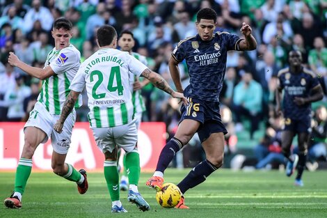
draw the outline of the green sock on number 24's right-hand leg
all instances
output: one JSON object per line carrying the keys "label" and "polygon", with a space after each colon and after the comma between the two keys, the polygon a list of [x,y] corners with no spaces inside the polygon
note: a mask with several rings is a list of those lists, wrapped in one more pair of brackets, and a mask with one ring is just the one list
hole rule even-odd
{"label": "green sock on number 24's right-hand leg", "polygon": [[132,150],[126,154],[126,168],[128,173],[129,184],[138,185],[140,179],[140,155],[137,150]]}

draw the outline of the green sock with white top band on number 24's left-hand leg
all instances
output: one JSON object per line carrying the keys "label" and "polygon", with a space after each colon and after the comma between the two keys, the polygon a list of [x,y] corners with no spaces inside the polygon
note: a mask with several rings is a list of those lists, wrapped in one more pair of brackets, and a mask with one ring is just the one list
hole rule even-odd
{"label": "green sock with white top band on number 24's left-hand leg", "polygon": [[104,161],[104,178],[108,187],[111,201],[119,200],[119,174],[117,170],[117,161]]}

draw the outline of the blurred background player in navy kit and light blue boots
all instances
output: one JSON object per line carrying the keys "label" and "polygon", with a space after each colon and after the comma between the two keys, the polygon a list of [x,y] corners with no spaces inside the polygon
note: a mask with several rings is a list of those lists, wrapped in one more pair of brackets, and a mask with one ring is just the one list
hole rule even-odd
{"label": "blurred background player in navy kit and light blue boots", "polygon": [[[282,114],[280,102],[284,90],[282,104],[285,128],[282,132],[282,153],[288,159],[286,175],[292,176],[297,166],[298,174],[294,185],[303,186],[302,173],[311,132],[311,102],[324,98],[324,93],[314,73],[303,68],[301,52],[289,52],[289,64],[289,68],[278,72],[276,111]],[[290,148],[296,134],[298,134],[298,155],[291,155]]]}

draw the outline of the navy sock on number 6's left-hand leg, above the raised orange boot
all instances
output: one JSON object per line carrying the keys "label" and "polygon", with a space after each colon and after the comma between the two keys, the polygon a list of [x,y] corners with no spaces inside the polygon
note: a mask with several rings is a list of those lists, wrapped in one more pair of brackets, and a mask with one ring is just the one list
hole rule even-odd
{"label": "navy sock on number 6's left-hand leg, above the raised orange boot", "polygon": [[179,151],[182,146],[182,141],[179,139],[176,139],[175,137],[170,139],[170,141],[166,143],[166,146],[161,150],[156,171],[164,172],[177,151]]}

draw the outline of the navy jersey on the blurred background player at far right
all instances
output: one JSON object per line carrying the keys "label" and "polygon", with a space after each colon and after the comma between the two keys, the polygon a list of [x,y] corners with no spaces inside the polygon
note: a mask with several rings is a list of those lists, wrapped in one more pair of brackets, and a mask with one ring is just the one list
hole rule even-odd
{"label": "navy jersey on the blurred background player at far right", "polygon": [[312,88],[319,85],[317,77],[308,69],[303,68],[301,73],[292,73],[289,68],[278,72],[279,88],[284,89],[282,107],[285,118],[301,120],[311,115],[311,103],[298,106],[295,97],[308,98]]}

